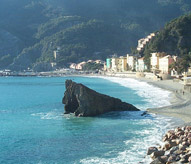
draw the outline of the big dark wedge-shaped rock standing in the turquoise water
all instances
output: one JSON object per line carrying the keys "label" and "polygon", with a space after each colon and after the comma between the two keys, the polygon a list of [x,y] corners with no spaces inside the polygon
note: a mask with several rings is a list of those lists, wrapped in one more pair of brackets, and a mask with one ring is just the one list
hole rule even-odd
{"label": "big dark wedge-shaped rock standing in the turquoise water", "polygon": [[110,111],[139,111],[131,104],[122,102],[98,93],[88,87],[66,80],[66,91],[62,100],[65,104],[65,113],[74,113],[75,116],[96,116]]}

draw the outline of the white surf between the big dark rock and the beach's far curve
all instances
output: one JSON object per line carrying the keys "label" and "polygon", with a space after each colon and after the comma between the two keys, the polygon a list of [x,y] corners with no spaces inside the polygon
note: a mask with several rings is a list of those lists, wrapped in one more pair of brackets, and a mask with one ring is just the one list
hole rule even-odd
{"label": "white surf between the big dark rock and the beach's far curve", "polygon": [[135,91],[137,95],[142,97],[147,103],[144,106],[137,106],[138,108],[145,110],[147,108],[158,108],[171,105],[170,98],[171,92],[164,89],[155,87],[147,82],[138,81],[131,78],[120,77],[99,77],[109,80],[114,83],[118,83],[121,86],[130,88]]}

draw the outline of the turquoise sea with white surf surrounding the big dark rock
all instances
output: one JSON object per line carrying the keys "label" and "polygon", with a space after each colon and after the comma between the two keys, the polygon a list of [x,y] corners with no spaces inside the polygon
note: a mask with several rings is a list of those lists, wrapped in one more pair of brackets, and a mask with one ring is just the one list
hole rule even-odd
{"label": "turquoise sea with white surf surrounding the big dark rock", "polygon": [[[131,103],[142,111],[97,117],[64,115],[65,80]],[[172,118],[145,115],[170,105],[171,93],[118,77],[0,77],[1,164],[147,164]]]}

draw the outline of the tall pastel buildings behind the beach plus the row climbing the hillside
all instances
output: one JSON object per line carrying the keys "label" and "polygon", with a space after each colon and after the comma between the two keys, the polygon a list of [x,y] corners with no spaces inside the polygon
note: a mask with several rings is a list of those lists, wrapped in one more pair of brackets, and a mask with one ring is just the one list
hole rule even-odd
{"label": "tall pastel buildings behind the beach plus the row climbing the hillside", "polygon": [[177,62],[177,56],[168,55],[165,52],[154,52],[151,53],[150,57],[150,71],[152,74],[148,75],[148,68],[145,64],[144,57],[139,54],[146,44],[154,37],[155,34],[151,33],[146,38],[138,41],[137,52],[138,54],[127,54],[126,56],[113,56],[112,58],[106,59],[105,70],[108,73],[125,73],[125,72],[136,72],[136,76],[145,77],[152,75],[153,79],[162,80],[170,78],[171,76],[177,76],[175,70],[170,70],[170,65]]}

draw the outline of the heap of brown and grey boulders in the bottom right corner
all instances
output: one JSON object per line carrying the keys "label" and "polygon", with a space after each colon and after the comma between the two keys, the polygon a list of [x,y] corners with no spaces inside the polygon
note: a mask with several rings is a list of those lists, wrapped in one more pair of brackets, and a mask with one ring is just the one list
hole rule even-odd
{"label": "heap of brown and grey boulders in the bottom right corner", "polygon": [[191,163],[191,126],[169,130],[163,142],[159,147],[148,149],[147,155],[153,159],[150,164]]}

